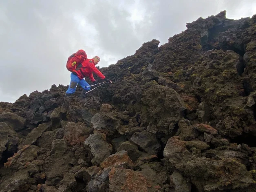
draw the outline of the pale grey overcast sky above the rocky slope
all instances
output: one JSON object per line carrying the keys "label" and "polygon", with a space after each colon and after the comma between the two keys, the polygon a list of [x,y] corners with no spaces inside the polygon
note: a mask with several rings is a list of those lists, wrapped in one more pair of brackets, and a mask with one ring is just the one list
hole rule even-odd
{"label": "pale grey overcast sky above the rocky slope", "polygon": [[[256,14],[255,0],[1,0],[0,102],[70,82],[69,55],[84,49],[100,67],[161,44],[186,23],[226,10],[227,18]],[[88,81],[90,84],[90,81]]]}

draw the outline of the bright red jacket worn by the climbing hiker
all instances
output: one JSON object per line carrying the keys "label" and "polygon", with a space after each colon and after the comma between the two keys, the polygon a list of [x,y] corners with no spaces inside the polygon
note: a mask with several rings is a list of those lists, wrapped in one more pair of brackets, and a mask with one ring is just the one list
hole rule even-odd
{"label": "bright red jacket worn by the climbing hiker", "polygon": [[102,75],[102,73],[95,67],[95,63],[93,59],[87,59],[82,62],[82,64],[79,64],[77,68],[74,70],[74,72],[77,74],[79,79],[83,79],[84,77],[89,77],[91,82],[94,82],[95,79],[93,78],[93,72],[96,73],[96,75],[101,78],[105,79],[105,76]]}

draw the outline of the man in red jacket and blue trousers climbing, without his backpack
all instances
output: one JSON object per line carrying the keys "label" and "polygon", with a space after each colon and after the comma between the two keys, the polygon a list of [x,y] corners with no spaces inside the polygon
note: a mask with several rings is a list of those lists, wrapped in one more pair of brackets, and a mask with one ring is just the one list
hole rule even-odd
{"label": "man in red jacket and blue trousers climbing, without his backpack", "polygon": [[71,94],[75,93],[75,90],[77,88],[77,84],[79,84],[83,90],[81,95],[79,96],[80,98],[85,97],[85,93],[90,90],[90,86],[84,77],[89,77],[91,82],[93,84],[98,84],[97,81],[93,78],[93,72],[101,79],[104,79],[104,81],[111,83],[109,79],[106,79],[104,75],[96,68],[95,65],[97,65],[100,61],[100,58],[98,56],[93,57],[93,59],[86,59],[84,62],[80,63],[77,65],[75,70],[71,73],[71,81],[68,87],[68,90],[66,91],[65,97],[70,96]]}

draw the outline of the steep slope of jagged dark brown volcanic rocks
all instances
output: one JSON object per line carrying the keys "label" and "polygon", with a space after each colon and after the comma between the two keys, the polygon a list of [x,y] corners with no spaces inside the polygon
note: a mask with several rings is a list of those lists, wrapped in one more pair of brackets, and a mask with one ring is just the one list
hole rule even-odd
{"label": "steep slope of jagged dark brown volcanic rocks", "polygon": [[255,192],[256,15],[223,11],[100,68],[113,84],[0,103],[0,192]]}

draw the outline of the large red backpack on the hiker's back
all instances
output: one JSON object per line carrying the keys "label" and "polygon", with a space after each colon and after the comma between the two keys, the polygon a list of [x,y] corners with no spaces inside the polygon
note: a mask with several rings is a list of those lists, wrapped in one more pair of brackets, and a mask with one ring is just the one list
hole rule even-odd
{"label": "large red backpack on the hiker's back", "polygon": [[73,72],[79,63],[87,59],[87,54],[84,50],[80,49],[68,57],[66,68],[68,71]]}

